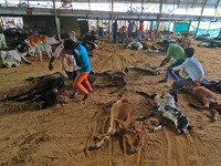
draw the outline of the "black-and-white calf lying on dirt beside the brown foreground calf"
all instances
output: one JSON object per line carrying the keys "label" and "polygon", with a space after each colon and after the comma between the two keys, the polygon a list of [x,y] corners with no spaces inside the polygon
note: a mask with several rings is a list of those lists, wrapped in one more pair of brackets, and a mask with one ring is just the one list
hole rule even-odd
{"label": "black-and-white calf lying on dirt beside the brown foreground calf", "polygon": [[188,125],[189,121],[187,116],[182,115],[182,113],[178,110],[175,98],[169,93],[161,92],[154,95],[148,95],[139,91],[136,91],[136,93],[154,100],[157,105],[157,108],[150,115],[137,118],[137,121],[144,121],[157,115],[158,113],[161,113],[164,117],[162,123],[159,126],[155,127],[154,129],[155,132],[165,126],[167,124],[167,120],[172,121],[175,123],[177,131],[181,134],[183,134],[186,129],[191,129],[191,126]]}

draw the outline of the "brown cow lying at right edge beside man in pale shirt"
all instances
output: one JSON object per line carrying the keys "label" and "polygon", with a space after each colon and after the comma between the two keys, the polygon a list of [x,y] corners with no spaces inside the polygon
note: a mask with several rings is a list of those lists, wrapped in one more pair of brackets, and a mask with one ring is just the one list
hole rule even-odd
{"label": "brown cow lying at right edge beside man in pale shirt", "polygon": [[206,89],[204,86],[186,86],[182,89],[193,94],[203,103],[203,106],[193,103],[191,103],[190,105],[200,108],[210,108],[211,118],[213,121],[218,120],[219,111],[221,111],[221,101],[218,101],[215,93]]}

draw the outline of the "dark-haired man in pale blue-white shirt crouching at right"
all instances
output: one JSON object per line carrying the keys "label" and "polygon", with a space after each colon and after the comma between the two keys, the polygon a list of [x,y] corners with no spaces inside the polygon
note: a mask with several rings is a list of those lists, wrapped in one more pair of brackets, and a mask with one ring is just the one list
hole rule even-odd
{"label": "dark-haired man in pale blue-white shirt crouching at right", "polygon": [[204,77],[204,71],[202,69],[202,65],[197,59],[193,58],[193,48],[185,49],[186,61],[181,65],[168,69],[169,71],[178,71],[180,69],[185,69],[189,75],[189,79],[181,79],[173,82],[172,94],[175,95],[176,102],[178,101],[177,95],[180,87],[200,85],[201,81]]}

